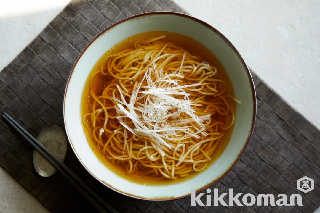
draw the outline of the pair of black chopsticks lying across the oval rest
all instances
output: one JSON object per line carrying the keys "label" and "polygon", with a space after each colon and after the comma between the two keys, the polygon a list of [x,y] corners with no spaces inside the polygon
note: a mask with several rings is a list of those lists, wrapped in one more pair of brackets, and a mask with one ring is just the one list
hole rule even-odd
{"label": "pair of black chopsticks lying across the oval rest", "polygon": [[72,184],[91,204],[100,212],[117,212],[110,204],[105,202],[97,195],[83,180],[81,180],[74,172],[72,172],[58,158],[52,155],[39,141],[37,141],[30,133],[22,128],[7,113],[3,114],[3,118],[24,138],[33,148],[35,148],[52,166],[64,176],[70,184]]}

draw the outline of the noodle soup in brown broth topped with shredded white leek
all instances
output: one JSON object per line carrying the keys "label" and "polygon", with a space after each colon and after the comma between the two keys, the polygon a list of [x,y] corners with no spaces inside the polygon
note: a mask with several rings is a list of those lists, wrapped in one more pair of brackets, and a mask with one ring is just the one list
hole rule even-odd
{"label": "noodle soup in brown broth topped with shredded white leek", "polygon": [[181,34],[132,36],[106,52],[83,93],[82,124],[95,155],[144,184],[204,171],[235,122],[232,85],[216,57]]}

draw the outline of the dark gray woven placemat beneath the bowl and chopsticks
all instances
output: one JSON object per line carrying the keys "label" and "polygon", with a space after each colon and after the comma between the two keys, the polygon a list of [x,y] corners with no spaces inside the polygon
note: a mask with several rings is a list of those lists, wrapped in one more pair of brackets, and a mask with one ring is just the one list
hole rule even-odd
{"label": "dark gray woven placemat beneath the bowl and chopsticks", "polygon": [[[0,72],[0,112],[12,115],[37,135],[48,125],[64,129],[65,83],[76,57],[101,30],[127,16],[148,11],[186,13],[171,0],[75,0]],[[191,206],[191,198],[152,202],[118,194],[92,178],[68,147],[65,164],[119,212],[313,212],[320,206],[320,131],[292,109],[252,72],[257,92],[257,120],[249,147],[223,179],[211,187],[219,194],[300,194],[303,206]],[[94,212],[68,182],[55,174],[40,177],[33,168],[32,148],[1,118],[0,164],[51,212]],[[303,176],[314,190],[297,190]],[[190,186],[191,188],[192,186]],[[241,200],[242,196],[240,196]],[[205,201],[205,198],[204,198]],[[228,196],[224,197],[228,203]]]}

